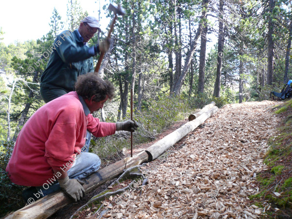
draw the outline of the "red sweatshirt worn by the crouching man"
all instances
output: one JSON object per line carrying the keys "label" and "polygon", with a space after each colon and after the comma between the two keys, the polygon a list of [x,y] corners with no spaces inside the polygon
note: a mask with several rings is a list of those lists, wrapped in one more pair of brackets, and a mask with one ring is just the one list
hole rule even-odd
{"label": "red sweatshirt worn by the crouching man", "polygon": [[86,113],[89,110],[82,106],[75,91],[39,108],[18,134],[6,167],[11,181],[42,186],[53,178],[53,169],[67,171],[72,166],[75,154],[85,145],[86,129],[95,137],[115,133],[115,123],[100,122]]}

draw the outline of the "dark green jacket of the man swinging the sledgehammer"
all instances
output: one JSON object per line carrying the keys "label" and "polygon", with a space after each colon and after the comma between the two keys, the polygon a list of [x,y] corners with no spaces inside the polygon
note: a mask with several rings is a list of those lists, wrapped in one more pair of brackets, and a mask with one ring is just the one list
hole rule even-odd
{"label": "dark green jacket of the man swinging the sledgehammer", "polygon": [[40,78],[41,87],[58,87],[74,91],[74,84],[81,74],[93,72],[92,54],[83,44],[79,32],[64,31],[55,39],[46,70]]}

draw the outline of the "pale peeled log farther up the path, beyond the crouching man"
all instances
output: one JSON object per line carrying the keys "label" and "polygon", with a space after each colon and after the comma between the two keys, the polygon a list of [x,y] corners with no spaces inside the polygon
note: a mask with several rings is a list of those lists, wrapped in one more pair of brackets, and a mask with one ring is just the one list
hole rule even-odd
{"label": "pale peeled log farther up the path, beyond the crouching man", "polygon": [[155,160],[159,157],[165,150],[173,146],[179,140],[181,140],[186,134],[193,131],[195,128],[200,126],[207,118],[217,112],[218,107],[214,106],[212,109],[207,112],[203,112],[197,119],[192,120],[184,124],[181,128],[176,129],[174,132],[165,136],[160,141],[156,142],[154,145],[148,147],[146,152],[149,156],[149,161]]}

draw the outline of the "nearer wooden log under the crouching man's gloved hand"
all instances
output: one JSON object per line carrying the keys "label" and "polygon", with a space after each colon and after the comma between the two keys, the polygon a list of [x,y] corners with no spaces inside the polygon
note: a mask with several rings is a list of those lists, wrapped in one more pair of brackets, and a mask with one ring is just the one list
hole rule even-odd
{"label": "nearer wooden log under the crouching man's gloved hand", "polygon": [[[145,151],[133,155],[133,157],[120,160],[82,179],[82,181],[85,182],[83,187],[86,192],[89,192],[102,183],[105,183],[123,173],[125,167],[128,169],[129,167],[142,164],[147,160],[148,155]],[[65,195],[64,192],[58,191],[19,209],[18,211],[8,215],[6,219],[45,219],[71,202],[73,202],[73,200]]]}

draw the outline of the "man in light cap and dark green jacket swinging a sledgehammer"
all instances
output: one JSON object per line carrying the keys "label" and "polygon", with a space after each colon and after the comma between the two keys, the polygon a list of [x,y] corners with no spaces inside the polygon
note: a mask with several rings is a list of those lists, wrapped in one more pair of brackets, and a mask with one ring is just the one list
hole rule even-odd
{"label": "man in light cap and dark green jacket swinging a sledgehammer", "polygon": [[40,78],[40,94],[46,103],[74,91],[77,77],[93,72],[92,56],[108,51],[108,39],[88,47],[88,41],[97,31],[101,32],[98,20],[89,16],[81,21],[78,30],[64,31],[56,37],[47,68]]}

